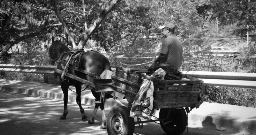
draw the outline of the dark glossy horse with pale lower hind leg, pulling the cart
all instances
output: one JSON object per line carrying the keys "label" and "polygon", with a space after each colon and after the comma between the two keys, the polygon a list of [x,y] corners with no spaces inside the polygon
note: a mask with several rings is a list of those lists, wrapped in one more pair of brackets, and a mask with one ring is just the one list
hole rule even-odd
{"label": "dark glossy horse with pale lower hind leg, pulling the cart", "polygon": [[[64,66],[66,65],[66,61],[65,59],[69,56],[69,52],[71,52],[70,49],[68,49],[67,46],[65,46],[62,42],[60,41],[54,41],[52,45],[49,48],[49,54],[50,54],[50,64],[54,65],[55,61],[57,61],[57,59],[60,59],[60,61],[58,62],[57,65],[57,69],[62,70],[62,66],[61,64],[63,64]],[[90,75],[91,74],[97,74],[100,75],[105,69],[111,70],[110,68],[110,62],[108,61],[108,59],[96,52],[96,51],[87,51],[87,52],[83,52],[80,58],[80,62],[79,62],[79,67],[83,70],[85,70],[86,72],[89,72]],[[74,66],[68,66],[68,72],[75,74],[77,77],[80,77],[82,79],[85,79],[87,81],[93,82],[93,79],[96,78],[95,76],[90,76],[88,74],[79,72],[79,71],[74,71]],[[61,75],[59,74],[59,78],[61,78]],[[81,88],[82,88],[82,82],[79,82],[77,80],[68,78],[65,81],[61,81],[60,85],[64,94],[64,112],[63,115],[60,117],[61,120],[65,120],[66,119],[66,115],[68,114],[68,87],[70,85],[74,85],[76,88],[76,92],[77,92],[77,104],[79,105],[80,108],[80,112],[82,113],[82,120],[86,121],[87,120],[87,115],[83,109],[83,107],[81,106]],[[93,96],[96,98],[95,101],[100,101],[101,98],[101,94],[100,93],[96,93],[95,92],[95,88],[91,87],[91,92],[93,94]],[[89,124],[93,124],[94,123],[94,118],[96,116],[96,112],[98,107],[100,107],[100,109],[102,110],[102,126],[101,128],[106,128],[106,114],[104,111],[104,101],[106,99],[106,96],[104,96],[105,94],[103,94],[103,98],[102,98],[102,103],[95,103],[95,109],[93,111],[93,115],[92,117],[88,120]]]}

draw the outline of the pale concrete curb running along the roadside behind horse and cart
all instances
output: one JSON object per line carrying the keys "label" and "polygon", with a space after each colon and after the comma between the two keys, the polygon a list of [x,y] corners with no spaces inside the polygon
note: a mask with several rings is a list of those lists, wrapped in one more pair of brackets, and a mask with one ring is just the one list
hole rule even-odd
{"label": "pale concrete curb running along the roadside behind horse and cart", "polygon": [[[75,90],[74,87],[70,89]],[[43,98],[63,100],[63,93],[60,85],[43,84],[38,82],[11,81],[0,79],[0,90],[39,96]],[[123,104],[126,99],[119,100]],[[76,93],[69,90],[68,102],[76,102]],[[95,98],[91,91],[82,92],[81,103],[84,105],[94,105]],[[104,106],[111,109],[118,103],[114,99],[107,99]],[[228,104],[217,104],[204,102],[198,109],[193,109],[188,113],[188,124],[195,124],[202,127],[211,127],[219,131],[232,131],[240,134],[256,133],[256,108],[241,107]],[[159,116],[159,111],[154,112],[154,116]]]}

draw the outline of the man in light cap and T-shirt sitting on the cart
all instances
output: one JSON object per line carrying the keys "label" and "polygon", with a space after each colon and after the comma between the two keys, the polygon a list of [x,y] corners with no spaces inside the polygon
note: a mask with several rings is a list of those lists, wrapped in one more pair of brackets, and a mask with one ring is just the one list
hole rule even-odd
{"label": "man in light cap and T-shirt sitting on the cart", "polygon": [[157,59],[152,60],[155,66],[170,66],[179,70],[182,64],[182,44],[180,40],[174,35],[175,26],[171,22],[166,22],[159,27],[166,37],[163,41],[160,55]]}

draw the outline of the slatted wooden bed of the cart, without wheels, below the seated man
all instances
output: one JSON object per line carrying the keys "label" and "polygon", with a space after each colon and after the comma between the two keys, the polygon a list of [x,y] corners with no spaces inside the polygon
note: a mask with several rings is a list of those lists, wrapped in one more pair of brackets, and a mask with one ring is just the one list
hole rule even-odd
{"label": "slatted wooden bed of the cart, without wheels, below the seated man", "polygon": [[[150,77],[145,73],[150,73],[143,69],[125,69],[120,66],[110,65],[112,68],[111,78],[116,86],[116,97],[126,97],[132,103],[135,94],[127,93],[124,89],[132,93],[138,93],[144,79],[150,79],[154,83],[154,109],[160,108],[198,108],[201,104],[203,81],[190,77],[180,72],[166,72],[168,80],[159,80]],[[166,70],[165,70],[166,71]],[[151,72],[152,73],[152,72]]]}

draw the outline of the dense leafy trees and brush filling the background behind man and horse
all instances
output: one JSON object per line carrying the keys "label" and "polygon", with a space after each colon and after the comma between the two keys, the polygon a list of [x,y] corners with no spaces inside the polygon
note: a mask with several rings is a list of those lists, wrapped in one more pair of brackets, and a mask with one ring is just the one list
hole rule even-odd
{"label": "dense leafy trees and brush filling the background behind man and horse", "polygon": [[[80,0],[58,0],[57,8],[74,39],[79,41],[85,34],[85,27],[90,27],[87,25],[92,24],[108,4],[108,0],[85,1],[85,12],[83,12]],[[241,36],[247,31],[254,34],[256,28],[255,7],[256,2],[250,0],[124,0],[118,2],[96,31],[93,31],[90,40],[96,41],[97,44],[87,43],[86,47],[95,50],[102,50],[103,47],[108,51],[107,56],[113,64],[126,68],[145,69],[146,64],[141,63],[150,63],[152,57],[158,56],[162,41],[142,39],[142,37],[148,36],[150,33],[161,33],[158,27],[170,21],[176,25],[176,35],[183,44],[182,70],[255,72],[256,63],[252,56],[255,55],[256,36],[252,38],[248,47],[239,48],[241,57],[243,57],[241,59],[213,57],[214,54],[209,52],[210,47],[213,46],[222,46],[227,43],[234,45],[231,43],[232,41],[218,40],[216,36]],[[220,23],[218,20],[215,21],[216,18]],[[2,0],[0,53],[16,39],[38,32],[46,25],[58,23],[59,20],[53,11],[51,0]],[[70,39],[65,35],[63,27],[50,27],[43,34],[21,40],[22,42],[19,44],[27,52],[26,55],[13,52],[11,58],[1,57],[0,62],[48,65],[47,50],[52,36],[58,36],[64,40],[66,45],[70,45]],[[38,82],[46,82],[48,78],[48,82],[58,83],[54,81],[54,78],[39,74],[7,73],[5,77],[8,76],[9,79]],[[240,95],[243,96],[246,93],[255,95],[252,90],[237,90],[209,87],[208,99],[228,104],[247,104],[248,102],[243,100],[242,96],[232,95],[230,91],[241,92]],[[214,91],[221,91],[226,96],[216,95]],[[247,94],[245,97],[248,97],[247,100],[253,103],[253,96]],[[235,101],[234,98],[238,98],[239,101]]]}

